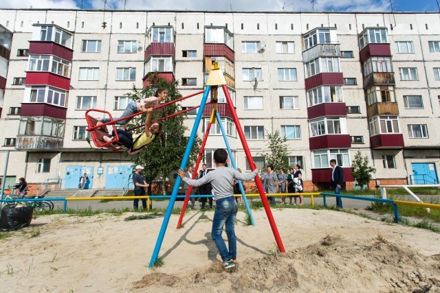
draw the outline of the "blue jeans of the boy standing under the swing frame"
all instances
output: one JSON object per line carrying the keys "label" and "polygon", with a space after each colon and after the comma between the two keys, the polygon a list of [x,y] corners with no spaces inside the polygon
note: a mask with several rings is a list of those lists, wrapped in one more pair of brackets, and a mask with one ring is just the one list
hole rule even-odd
{"label": "blue jeans of the boy standing under the swing frame", "polygon": [[[214,220],[212,221],[212,240],[214,240],[223,261],[236,259],[235,218],[238,209],[234,196],[220,198],[215,201]],[[228,236],[229,250],[226,248],[223,237],[221,237],[223,226],[226,226],[225,230]]]}

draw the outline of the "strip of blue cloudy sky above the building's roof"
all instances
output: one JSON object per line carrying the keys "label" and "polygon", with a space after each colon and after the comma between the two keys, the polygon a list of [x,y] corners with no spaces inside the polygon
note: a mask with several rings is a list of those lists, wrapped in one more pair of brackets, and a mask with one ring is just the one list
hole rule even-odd
{"label": "strip of blue cloudy sky above the building's roof", "polygon": [[[440,1],[440,0],[439,0]],[[0,8],[104,9],[104,0],[2,0]],[[109,10],[311,11],[311,0],[107,0]],[[393,0],[396,12],[437,12],[437,0]],[[389,12],[389,0],[316,0],[314,10]]]}

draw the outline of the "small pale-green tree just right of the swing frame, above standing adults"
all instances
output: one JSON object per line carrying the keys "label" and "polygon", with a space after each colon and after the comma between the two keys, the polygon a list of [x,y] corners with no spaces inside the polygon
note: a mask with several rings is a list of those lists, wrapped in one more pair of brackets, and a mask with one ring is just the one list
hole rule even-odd
{"label": "small pale-green tree just right of the swing frame, above standing adults", "polygon": [[278,130],[274,133],[266,132],[267,143],[266,146],[270,152],[259,153],[259,155],[264,157],[265,165],[273,165],[274,171],[278,172],[279,169],[285,168],[289,169],[289,156],[287,148],[287,139],[281,137]]}

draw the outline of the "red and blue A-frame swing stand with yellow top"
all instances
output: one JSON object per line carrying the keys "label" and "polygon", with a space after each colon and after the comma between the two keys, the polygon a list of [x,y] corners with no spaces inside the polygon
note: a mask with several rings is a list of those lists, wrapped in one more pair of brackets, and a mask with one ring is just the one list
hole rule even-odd
{"label": "red and blue A-frame swing stand with yellow top", "polygon": [[[205,87],[205,90],[203,91],[203,97],[201,99],[200,106],[193,107],[193,108],[199,108],[199,111],[197,111],[197,116],[196,116],[195,121],[194,121],[194,126],[192,126],[191,134],[190,134],[190,137],[188,139],[188,145],[186,145],[186,150],[185,150],[185,153],[184,153],[184,158],[181,161],[180,169],[185,169],[186,165],[188,164],[188,159],[189,159],[189,156],[190,156],[190,152],[191,152],[192,146],[194,145],[195,137],[197,136],[197,129],[199,128],[199,125],[200,125],[201,117],[203,115],[203,110],[205,108],[205,105],[206,104],[210,104],[210,103],[213,103],[214,105],[212,107],[212,113],[211,113],[211,116],[210,116],[209,124],[208,124],[208,126],[206,128],[206,131],[205,131],[205,136],[203,137],[203,141],[202,141],[202,144],[201,144],[201,149],[199,151],[199,156],[197,157],[197,162],[196,162],[196,165],[195,165],[195,170],[198,169],[199,163],[200,163],[201,158],[203,156],[203,151],[204,151],[204,148],[205,148],[205,145],[206,145],[206,141],[208,139],[208,134],[210,132],[210,127],[211,127],[212,124],[216,124],[218,121],[219,121],[219,127],[221,129],[221,133],[223,135],[223,139],[225,141],[226,148],[228,150],[228,156],[229,156],[230,162],[232,163],[232,167],[234,167],[234,169],[236,169],[235,161],[233,159],[232,152],[230,150],[228,139],[226,138],[225,130],[223,128],[223,125],[221,124],[220,115],[217,112],[217,93],[218,93],[219,86],[221,86],[221,88],[223,89],[223,93],[224,93],[224,95],[226,97],[226,102],[227,102],[227,104],[228,104],[228,106],[230,108],[230,111],[231,111],[231,114],[232,114],[232,119],[234,120],[234,124],[236,126],[236,131],[239,134],[239,138],[241,140],[241,144],[243,145],[243,150],[245,151],[245,155],[246,155],[246,158],[248,159],[248,163],[250,165],[250,168],[251,169],[256,169],[256,165],[255,165],[254,161],[252,160],[252,155],[250,154],[248,143],[247,143],[247,141],[245,139],[245,135],[243,133],[243,130],[241,129],[241,124],[240,124],[240,121],[239,121],[239,117],[236,115],[234,104],[232,103],[232,99],[230,97],[228,88],[226,86],[225,78],[224,78],[223,73],[221,72],[221,69],[219,68],[219,65],[218,65],[217,62],[214,62],[214,64],[212,65],[212,70],[211,70],[210,75],[208,77],[208,80],[206,82],[206,87]],[[201,93],[201,92],[195,93],[194,95],[198,95],[199,93]],[[211,96],[211,101],[207,102],[209,95]],[[192,179],[194,179],[195,176],[196,176],[196,172],[193,172]],[[181,183],[181,178],[179,176],[177,176],[175,185],[173,187],[173,192],[171,194],[170,201],[168,202],[168,207],[166,208],[166,212],[165,212],[165,215],[164,215],[164,221],[162,222],[162,226],[161,226],[161,228],[159,230],[159,235],[157,236],[157,241],[156,241],[156,244],[155,244],[155,248],[153,250],[153,255],[151,256],[150,263],[148,264],[148,268],[152,268],[155,265],[155,262],[157,261],[157,258],[159,257],[159,250],[160,250],[160,248],[162,246],[162,242],[164,240],[164,235],[166,233],[166,228],[167,228],[167,226],[169,224],[169,221],[170,221],[171,212],[173,211],[173,207],[174,207],[174,204],[175,204],[175,200],[177,198],[177,192],[179,191],[180,183]],[[283,241],[281,240],[281,237],[280,237],[280,235],[278,233],[278,228],[276,226],[274,217],[272,215],[272,211],[270,209],[270,205],[267,202],[267,198],[265,196],[265,193],[264,193],[264,190],[263,190],[263,185],[261,184],[261,180],[260,180],[259,176],[255,177],[255,183],[256,183],[256,187],[257,187],[257,189],[259,191],[259,194],[260,194],[260,197],[261,197],[261,201],[263,202],[263,207],[265,209],[265,213],[267,215],[267,219],[269,220],[270,226],[272,228],[272,232],[274,233],[274,237],[275,237],[275,241],[276,241],[276,244],[278,246],[278,249],[280,250],[281,253],[285,253],[285,248],[284,248],[284,245],[283,245]],[[240,181],[239,181],[239,187],[240,187],[240,190],[241,190],[241,194],[243,196],[243,201],[245,202],[245,205],[246,205],[246,209],[248,209],[248,214],[250,215],[250,218],[252,220],[252,224],[255,225],[254,224],[254,219],[252,218],[252,213],[250,211],[250,207],[249,207],[249,204],[248,204],[248,200],[246,199],[246,196],[245,196],[245,193],[244,193],[244,190],[243,190],[243,185],[242,185],[242,183]],[[192,187],[189,187],[189,189],[188,189],[188,191],[186,193],[186,197],[185,197],[185,201],[184,201],[184,206],[182,207],[182,210],[181,210],[179,221],[177,223],[177,228],[181,227],[181,222],[183,220],[184,213],[185,213],[186,207],[188,205],[188,200],[190,198],[191,189],[192,189]]]}

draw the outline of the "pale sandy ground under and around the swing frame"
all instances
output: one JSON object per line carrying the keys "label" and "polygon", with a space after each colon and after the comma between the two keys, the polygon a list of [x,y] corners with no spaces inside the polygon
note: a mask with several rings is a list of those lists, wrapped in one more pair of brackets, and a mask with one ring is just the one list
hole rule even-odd
{"label": "pale sandy ground under and around the swing frame", "polygon": [[[3,292],[440,292],[440,234],[338,211],[273,211],[287,253],[276,253],[265,212],[239,212],[238,272],[223,272],[210,240],[213,211],[163,217],[50,215],[0,240]],[[39,235],[36,231],[39,230]],[[34,237],[32,237],[32,234]],[[224,235],[224,233],[223,233]]]}

